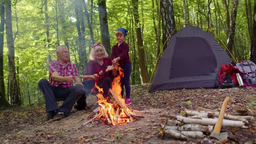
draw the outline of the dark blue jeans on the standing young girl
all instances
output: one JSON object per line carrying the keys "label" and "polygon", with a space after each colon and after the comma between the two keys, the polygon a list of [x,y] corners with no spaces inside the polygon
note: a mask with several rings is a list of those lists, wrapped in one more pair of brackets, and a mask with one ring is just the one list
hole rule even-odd
{"label": "dark blue jeans on the standing young girl", "polygon": [[124,77],[121,78],[121,95],[124,97],[124,85],[125,85],[125,93],[126,98],[130,98],[131,95],[131,87],[130,87],[130,76],[131,76],[131,63],[122,63],[120,64],[121,68],[124,71]]}

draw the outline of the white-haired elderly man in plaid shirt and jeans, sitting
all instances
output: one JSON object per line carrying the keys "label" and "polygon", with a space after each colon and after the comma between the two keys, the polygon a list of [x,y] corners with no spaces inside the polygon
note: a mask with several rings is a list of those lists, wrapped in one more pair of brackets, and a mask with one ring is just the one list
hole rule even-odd
{"label": "white-haired elderly man in plaid shirt and jeans, sitting", "polygon": [[[56,56],[58,59],[48,64],[49,82],[46,79],[40,79],[38,82],[38,87],[45,97],[46,118],[53,121],[67,117],[75,101],[85,95],[75,65],[68,62],[67,46],[58,46]],[[73,80],[75,86],[73,86]],[[56,98],[63,98],[65,101],[58,107]]]}

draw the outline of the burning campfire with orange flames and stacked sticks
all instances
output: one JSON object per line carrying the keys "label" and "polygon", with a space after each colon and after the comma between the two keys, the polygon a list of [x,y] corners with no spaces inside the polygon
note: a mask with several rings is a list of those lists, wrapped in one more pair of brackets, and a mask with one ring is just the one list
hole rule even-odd
{"label": "burning campfire with orange flames and stacked sticks", "polygon": [[[89,121],[86,121],[82,124],[88,124],[92,121],[102,121],[106,125],[120,125],[127,124],[133,121],[137,121],[142,116],[136,115],[135,111],[125,105],[125,100],[121,96],[121,77],[124,76],[124,73],[119,69],[119,75],[115,77],[112,82],[112,88],[109,88],[109,97],[104,97],[103,88],[98,87],[95,83],[95,88],[98,90],[96,94],[98,98],[98,105],[100,106],[100,111],[93,113],[88,117]],[[94,88],[93,88],[94,89]]]}

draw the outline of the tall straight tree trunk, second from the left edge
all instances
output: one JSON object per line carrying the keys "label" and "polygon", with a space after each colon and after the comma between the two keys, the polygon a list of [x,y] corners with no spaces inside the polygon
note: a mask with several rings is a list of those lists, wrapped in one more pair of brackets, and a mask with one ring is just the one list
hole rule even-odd
{"label": "tall straight tree trunk, second from the left edge", "polygon": [[14,61],[14,44],[13,44],[13,29],[12,29],[12,11],[11,1],[7,0],[5,4],[6,13],[6,39],[8,47],[8,69],[9,69],[9,82],[10,82],[10,97],[12,105],[21,105],[18,86],[15,73],[15,61]]}

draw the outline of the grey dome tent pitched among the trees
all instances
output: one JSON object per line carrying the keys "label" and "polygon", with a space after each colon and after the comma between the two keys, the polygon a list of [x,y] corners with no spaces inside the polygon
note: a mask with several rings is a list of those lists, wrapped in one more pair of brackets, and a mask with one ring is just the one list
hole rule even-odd
{"label": "grey dome tent pitched among the trees", "polygon": [[215,88],[220,65],[230,62],[210,33],[197,26],[186,26],[171,36],[149,92]]}

